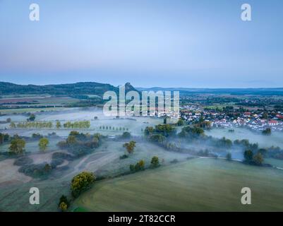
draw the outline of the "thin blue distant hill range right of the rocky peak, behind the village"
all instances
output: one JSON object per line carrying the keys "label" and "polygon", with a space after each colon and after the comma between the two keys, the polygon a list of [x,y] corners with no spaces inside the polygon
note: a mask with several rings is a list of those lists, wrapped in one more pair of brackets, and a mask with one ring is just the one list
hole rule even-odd
{"label": "thin blue distant hill range right of the rocky peak, behind the village", "polygon": [[283,95],[283,88],[136,88],[140,91],[179,91],[180,95],[230,94],[230,95]]}

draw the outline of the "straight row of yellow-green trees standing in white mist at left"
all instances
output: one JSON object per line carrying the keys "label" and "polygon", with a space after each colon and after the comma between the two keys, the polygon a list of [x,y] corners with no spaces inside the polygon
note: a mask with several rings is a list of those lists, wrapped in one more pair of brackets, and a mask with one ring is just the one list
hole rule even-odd
{"label": "straight row of yellow-green trees standing in white mist at left", "polygon": [[[37,129],[51,129],[53,128],[52,121],[26,121],[20,122],[18,124],[11,122],[11,128],[20,128],[20,129],[28,129],[28,128],[37,128]],[[60,121],[56,121],[56,128],[60,129],[62,127]],[[65,129],[88,129],[90,128],[90,121],[67,121],[63,124]]]}

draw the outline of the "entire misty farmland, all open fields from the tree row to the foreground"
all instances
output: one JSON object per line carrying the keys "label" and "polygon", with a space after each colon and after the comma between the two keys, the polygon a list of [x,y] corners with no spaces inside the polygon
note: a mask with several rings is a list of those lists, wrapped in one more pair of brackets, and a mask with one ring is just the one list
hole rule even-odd
{"label": "entire misty farmland, all open fields from the tree row to the foreground", "polygon": [[[147,126],[163,124],[162,118],[157,117],[105,117],[98,107],[68,108],[54,110],[39,110],[35,114],[35,121],[28,121],[32,109],[13,114],[5,112],[0,116],[1,133],[10,136],[18,134],[25,139],[25,157],[33,165],[51,165],[55,153],[70,154],[71,159],[64,159],[56,165],[47,177],[35,177],[30,171],[21,170],[16,165],[17,156],[9,156],[7,152],[11,145],[4,142],[0,145],[0,210],[4,211],[58,211],[58,201],[61,195],[71,198],[71,179],[80,172],[93,172],[99,180],[90,191],[86,191],[72,203],[68,210],[90,211],[131,211],[131,210],[281,210],[282,206],[282,170],[272,167],[255,167],[243,165],[241,162],[229,162],[220,159],[225,157],[227,150],[222,147],[212,147],[212,143],[201,141],[186,141],[177,137],[170,138],[170,142],[179,145],[183,151],[169,150],[149,142],[144,132]],[[7,119],[15,124],[52,123],[49,128],[11,127]],[[89,121],[88,128],[64,127],[64,124]],[[56,127],[60,122],[61,127]],[[69,123],[70,124],[70,123]],[[176,126],[176,132],[182,130]],[[66,141],[71,131],[93,136],[100,133],[104,136],[99,147],[80,156],[70,153],[67,148],[59,148],[61,141]],[[131,138],[124,139],[124,132],[131,134]],[[40,133],[49,140],[47,150],[42,152],[39,139],[32,138],[34,133]],[[280,134],[272,133],[263,136],[245,129],[235,129],[229,133],[225,129],[211,129],[205,131],[214,138],[227,136],[232,141],[248,136],[251,141],[265,145],[281,146]],[[135,150],[127,155],[124,143],[136,141]],[[80,147],[79,147],[80,148]],[[217,153],[218,160],[200,158],[199,150],[209,149]],[[75,149],[75,151],[77,148]],[[243,159],[241,148],[231,148],[231,155],[235,160]],[[153,156],[159,157],[160,167],[150,169]],[[136,165],[140,160],[145,162],[146,170],[130,173],[130,165]],[[282,160],[266,158],[265,163],[282,168]],[[40,205],[32,206],[28,203],[30,187],[40,189]],[[241,188],[249,186],[253,192],[253,205],[242,206],[240,203]],[[158,192],[157,192],[158,191]],[[265,194],[265,196],[263,196]],[[268,195],[266,195],[268,194]],[[264,198],[263,198],[264,197]]]}

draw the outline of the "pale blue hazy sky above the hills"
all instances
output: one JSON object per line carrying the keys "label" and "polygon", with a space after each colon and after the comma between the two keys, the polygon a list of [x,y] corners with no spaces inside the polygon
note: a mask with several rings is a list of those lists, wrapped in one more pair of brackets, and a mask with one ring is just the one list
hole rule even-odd
{"label": "pale blue hazy sky above the hills", "polygon": [[281,0],[0,0],[0,81],[283,87],[282,11]]}

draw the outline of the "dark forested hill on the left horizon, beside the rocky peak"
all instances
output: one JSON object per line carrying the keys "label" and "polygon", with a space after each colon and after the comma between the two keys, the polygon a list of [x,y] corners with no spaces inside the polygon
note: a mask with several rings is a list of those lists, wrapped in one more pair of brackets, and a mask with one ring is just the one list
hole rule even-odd
{"label": "dark forested hill on the left horizon, beside the rocky peak", "polygon": [[[60,85],[17,85],[0,82],[0,95],[18,94],[49,94],[49,95],[99,95],[106,91],[118,92],[119,88],[104,83],[71,83]],[[135,90],[130,83],[126,83],[126,91]]]}

